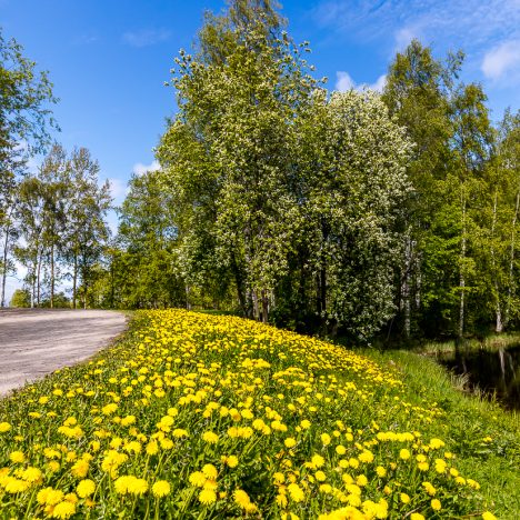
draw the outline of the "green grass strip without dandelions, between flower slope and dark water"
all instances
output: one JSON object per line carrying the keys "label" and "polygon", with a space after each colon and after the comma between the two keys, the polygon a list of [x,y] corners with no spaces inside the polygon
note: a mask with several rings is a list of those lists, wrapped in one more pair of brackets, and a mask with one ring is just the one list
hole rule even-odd
{"label": "green grass strip without dandelions, between flower slope and dark water", "polygon": [[[432,359],[393,350],[362,353],[383,366],[393,366],[404,382],[407,399],[424,398],[444,412],[432,429],[453,446],[458,463],[481,484],[499,518],[520,518],[520,414],[462,391],[461,381]],[[482,439],[491,438],[490,442]]]}

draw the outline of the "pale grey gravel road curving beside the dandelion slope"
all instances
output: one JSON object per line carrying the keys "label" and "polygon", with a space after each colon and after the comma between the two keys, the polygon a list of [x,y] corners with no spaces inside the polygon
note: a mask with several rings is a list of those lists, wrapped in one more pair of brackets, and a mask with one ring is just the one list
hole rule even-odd
{"label": "pale grey gravel road curving beside the dandelion slope", "polygon": [[89,358],[126,323],[114,311],[0,310],[0,396]]}

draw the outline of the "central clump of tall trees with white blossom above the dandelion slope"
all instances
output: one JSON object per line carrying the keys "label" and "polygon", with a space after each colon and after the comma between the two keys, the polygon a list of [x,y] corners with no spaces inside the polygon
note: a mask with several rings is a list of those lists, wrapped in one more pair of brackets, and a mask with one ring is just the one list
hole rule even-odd
{"label": "central clump of tall trees with white blossom above the dandelion slope", "polygon": [[207,17],[199,53],[177,60],[158,157],[182,274],[233,288],[244,316],[368,337],[392,313],[410,144],[377,96],[329,99],[307,42],[250,7]]}

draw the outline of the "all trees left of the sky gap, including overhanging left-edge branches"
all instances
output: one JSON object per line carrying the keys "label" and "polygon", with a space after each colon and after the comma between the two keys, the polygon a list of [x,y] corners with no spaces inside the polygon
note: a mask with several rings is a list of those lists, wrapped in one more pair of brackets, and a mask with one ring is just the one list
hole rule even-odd
{"label": "all trees left of the sky gap, including overhanging left-edge branches", "polygon": [[[89,293],[109,239],[109,186],[99,186],[99,164],[87,149],[68,156],[52,144],[52,84],[22,51],[0,32],[0,306],[16,262],[27,270],[16,303],[63,306],[58,288],[69,283],[71,307],[96,304]],[[29,173],[28,158],[46,151]]]}

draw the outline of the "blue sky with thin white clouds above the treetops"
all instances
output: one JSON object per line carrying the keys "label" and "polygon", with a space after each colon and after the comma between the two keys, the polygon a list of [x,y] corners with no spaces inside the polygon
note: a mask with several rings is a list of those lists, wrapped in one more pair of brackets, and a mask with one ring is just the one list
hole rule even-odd
{"label": "blue sky with thin white clouds above the treetops", "polygon": [[[286,0],[282,13],[329,88],[379,88],[396,51],[413,38],[436,56],[463,49],[462,79],[478,81],[492,118],[520,107],[520,0]],[[60,102],[56,136],[87,147],[110,179],[116,202],[176,110],[163,87],[173,58],[189,49],[204,9],[219,0],[0,0],[0,26],[49,70]],[[112,224],[114,223],[112,217]]]}

